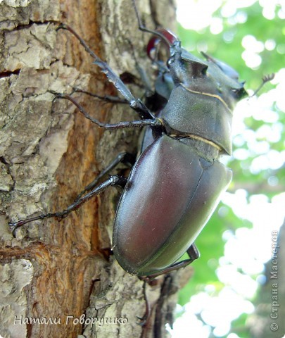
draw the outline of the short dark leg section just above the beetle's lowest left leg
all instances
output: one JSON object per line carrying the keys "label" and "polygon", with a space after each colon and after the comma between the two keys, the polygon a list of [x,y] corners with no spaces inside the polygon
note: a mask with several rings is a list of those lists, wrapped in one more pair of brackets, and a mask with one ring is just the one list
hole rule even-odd
{"label": "short dark leg section just above the beetle's lowest left leg", "polygon": [[80,194],[77,196],[77,199],[80,199],[84,194],[94,189],[94,187],[96,187],[96,185],[98,184],[99,180],[101,180],[101,178],[104,175],[108,174],[110,170],[115,168],[119,163],[124,163],[128,165],[129,167],[132,167],[132,165],[134,165],[134,162],[135,162],[135,157],[132,154],[129,154],[126,152],[118,154],[113,159],[113,161],[109,163],[109,165],[105,169],[103,169],[101,173],[99,173],[99,175],[91,183],[89,183],[87,187],[84,188],[84,190],[82,190],[82,192],[80,192]]}

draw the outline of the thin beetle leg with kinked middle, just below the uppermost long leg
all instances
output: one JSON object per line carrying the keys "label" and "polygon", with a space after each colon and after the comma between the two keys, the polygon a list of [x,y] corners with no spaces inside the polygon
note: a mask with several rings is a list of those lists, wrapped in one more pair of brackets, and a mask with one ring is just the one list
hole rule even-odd
{"label": "thin beetle leg with kinked middle, just below the uppermost long leg", "polygon": [[60,94],[52,92],[53,94],[56,94],[56,97],[53,99],[67,99],[68,101],[72,102],[77,108],[79,109],[80,113],[82,113],[85,118],[88,120],[91,120],[92,123],[95,123],[96,125],[99,125],[99,127],[102,127],[104,129],[113,130],[113,129],[121,129],[121,128],[134,128],[134,127],[145,127],[146,125],[150,125],[151,127],[161,127],[162,123],[157,118],[150,118],[150,119],[143,119],[138,121],[127,121],[127,122],[119,122],[119,123],[102,123],[96,118],[92,118],[87,111],[79,104],[75,99],[72,98],[72,96],[68,94]]}

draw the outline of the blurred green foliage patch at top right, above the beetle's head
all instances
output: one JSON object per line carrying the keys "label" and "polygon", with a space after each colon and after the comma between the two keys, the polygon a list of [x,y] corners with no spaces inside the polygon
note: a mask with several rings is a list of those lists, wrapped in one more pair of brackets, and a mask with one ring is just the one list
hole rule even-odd
{"label": "blurred green foliage patch at top right, above the beetle's head", "polygon": [[[241,15],[246,17],[246,22],[235,23],[235,18]],[[185,30],[181,25],[178,25],[177,35],[185,49],[191,52],[202,50],[229,63],[239,72],[240,78],[246,80],[246,88],[257,88],[264,75],[276,73],[277,70],[284,67],[285,27],[284,20],[281,20],[277,15],[274,20],[267,20],[262,15],[262,7],[256,2],[253,6],[239,8],[231,18],[223,18],[220,10],[214,13],[213,17],[220,18],[223,24],[222,32],[217,35],[210,32],[210,27],[205,27],[201,32],[195,32],[194,30]],[[241,42],[246,35],[253,35],[263,43],[267,40],[274,40],[276,43],[272,51],[264,49],[260,52],[262,63],[258,69],[253,70],[246,67],[245,61],[241,58],[244,51]],[[277,49],[283,51],[283,54],[280,54]],[[267,85],[266,88],[268,89],[268,87],[270,85]]]}

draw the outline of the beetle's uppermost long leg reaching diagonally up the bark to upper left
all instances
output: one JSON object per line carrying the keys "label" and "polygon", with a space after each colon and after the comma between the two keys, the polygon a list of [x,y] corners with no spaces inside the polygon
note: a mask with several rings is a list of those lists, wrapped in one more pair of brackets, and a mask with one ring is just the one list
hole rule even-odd
{"label": "beetle's uppermost long leg reaching diagonally up the bark to upper left", "polygon": [[74,35],[79,40],[80,44],[84,46],[84,49],[87,51],[87,53],[89,53],[92,56],[92,58],[94,58],[94,63],[98,65],[99,68],[101,68],[102,72],[106,74],[106,77],[108,78],[108,80],[114,84],[114,86],[118,89],[118,91],[122,94],[122,96],[124,96],[125,99],[129,102],[129,106],[131,106],[131,108],[133,108],[134,111],[137,111],[137,113],[139,113],[141,118],[144,118],[144,119],[155,118],[153,113],[151,113],[151,111],[146,107],[146,105],[140,99],[136,99],[133,96],[129,88],[127,88],[125,83],[122,82],[120,77],[118,77],[118,75],[116,75],[113,72],[113,70],[109,67],[109,65],[106,62],[102,61],[101,58],[99,58],[99,56],[96,56],[94,51],[92,51],[89,48],[89,46],[87,46],[87,43],[84,42],[82,37],[80,37],[77,34],[77,32],[75,32],[75,30],[72,30],[70,26],[65,25],[65,24],[59,25],[57,30],[60,30],[60,29],[68,30],[70,33],[72,33],[72,35]]}

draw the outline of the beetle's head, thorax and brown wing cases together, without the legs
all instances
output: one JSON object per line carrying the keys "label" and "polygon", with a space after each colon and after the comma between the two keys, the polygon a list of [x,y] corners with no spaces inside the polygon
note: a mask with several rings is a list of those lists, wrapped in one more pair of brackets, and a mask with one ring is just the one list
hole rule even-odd
{"label": "beetle's head, thorax and brown wing cases together, without the legs", "polygon": [[215,210],[232,179],[232,170],[217,160],[232,152],[232,110],[245,94],[229,66],[201,61],[178,41],[170,52],[173,89],[159,114],[165,132],[153,139],[146,132],[113,231],[118,262],[141,276],[173,266]]}

